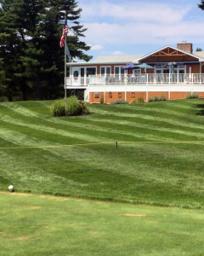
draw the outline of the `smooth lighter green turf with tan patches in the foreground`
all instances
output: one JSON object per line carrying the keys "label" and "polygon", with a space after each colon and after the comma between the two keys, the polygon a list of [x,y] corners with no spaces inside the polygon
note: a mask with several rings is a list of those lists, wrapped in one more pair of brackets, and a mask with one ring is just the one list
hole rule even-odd
{"label": "smooth lighter green turf with tan patches in the foreground", "polygon": [[203,255],[202,211],[0,193],[0,255]]}

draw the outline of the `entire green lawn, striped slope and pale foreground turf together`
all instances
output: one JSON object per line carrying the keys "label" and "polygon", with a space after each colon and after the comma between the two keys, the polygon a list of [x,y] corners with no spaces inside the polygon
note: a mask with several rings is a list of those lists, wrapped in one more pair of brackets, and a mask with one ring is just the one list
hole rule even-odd
{"label": "entire green lawn, striped slope and pale foreground turf together", "polygon": [[203,255],[203,100],[51,103],[0,103],[0,255]]}

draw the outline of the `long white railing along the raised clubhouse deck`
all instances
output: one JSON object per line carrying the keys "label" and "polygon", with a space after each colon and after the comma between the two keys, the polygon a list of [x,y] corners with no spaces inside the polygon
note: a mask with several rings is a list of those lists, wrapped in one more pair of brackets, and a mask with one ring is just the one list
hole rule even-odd
{"label": "long white railing along the raised clubhouse deck", "polygon": [[94,84],[204,84],[204,73],[92,75],[87,78],[67,78],[67,85],[86,86]]}

